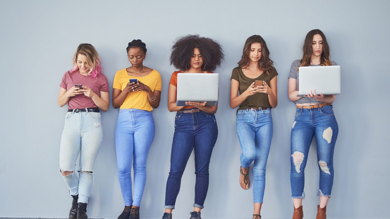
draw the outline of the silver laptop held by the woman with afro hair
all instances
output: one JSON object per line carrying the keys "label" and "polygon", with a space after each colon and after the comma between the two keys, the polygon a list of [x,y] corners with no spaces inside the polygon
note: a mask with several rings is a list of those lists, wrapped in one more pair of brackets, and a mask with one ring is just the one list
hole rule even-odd
{"label": "silver laptop held by the woman with afro hair", "polygon": [[206,106],[215,106],[218,102],[218,77],[216,73],[177,74],[176,106],[188,106],[186,101],[206,101]]}

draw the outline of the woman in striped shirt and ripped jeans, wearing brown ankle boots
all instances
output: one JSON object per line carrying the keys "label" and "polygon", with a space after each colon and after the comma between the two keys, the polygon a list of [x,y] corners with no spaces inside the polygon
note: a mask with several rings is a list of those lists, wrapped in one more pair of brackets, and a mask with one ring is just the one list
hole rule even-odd
{"label": "woman in striped shirt and ripped jeans, wearing brown ankle boots", "polygon": [[320,171],[319,205],[316,219],[326,218],[326,204],[333,185],[333,152],[339,131],[333,114],[335,95],[324,96],[310,91],[304,97],[299,94],[299,67],[337,65],[330,61],[329,45],[321,30],[311,30],[303,44],[303,58],[291,64],[288,95],[296,104],[295,120],[291,129],[291,197],[294,202],[293,219],[302,219],[302,199],[305,198],[305,166],[310,144],[316,136],[317,159]]}

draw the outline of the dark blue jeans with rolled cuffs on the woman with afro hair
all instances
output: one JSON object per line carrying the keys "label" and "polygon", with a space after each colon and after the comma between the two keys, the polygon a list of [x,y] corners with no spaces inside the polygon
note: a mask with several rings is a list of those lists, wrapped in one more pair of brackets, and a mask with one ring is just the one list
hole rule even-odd
{"label": "dark blue jeans with rolled cuffs on the woman with afro hair", "polygon": [[213,152],[217,136],[218,127],[214,114],[204,111],[176,113],[170,172],[165,190],[165,208],[175,208],[181,177],[193,148],[195,150],[196,175],[194,207],[204,207],[204,200],[209,188],[211,152]]}

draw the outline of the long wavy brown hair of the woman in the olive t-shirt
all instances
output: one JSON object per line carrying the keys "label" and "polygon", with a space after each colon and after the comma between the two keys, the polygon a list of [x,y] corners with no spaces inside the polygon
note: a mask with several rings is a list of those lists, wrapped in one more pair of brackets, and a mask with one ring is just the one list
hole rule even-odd
{"label": "long wavy brown hair of the woman in the olive t-shirt", "polygon": [[248,37],[245,41],[243,55],[241,56],[241,60],[238,62],[238,66],[246,69],[249,66],[249,52],[250,46],[252,43],[259,42],[261,44],[261,58],[259,62],[257,62],[259,69],[270,74],[269,70],[275,69],[273,65],[273,61],[269,58],[269,50],[267,48],[266,41],[260,35],[253,35]]}

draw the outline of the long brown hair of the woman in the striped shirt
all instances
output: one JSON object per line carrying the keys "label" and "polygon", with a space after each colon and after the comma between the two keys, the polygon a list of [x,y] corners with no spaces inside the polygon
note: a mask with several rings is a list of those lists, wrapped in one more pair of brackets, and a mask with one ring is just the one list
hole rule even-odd
{"label": "long brown hair of the woman in the striped shirt", "polygon": [[321,63],[320,65],[332,65],[330,62],[330,49],[329,44],[326,41],[326,37],[324,33],[321,30],[315,29],[310,30],[306,34],[305,42],[303,43],[303,57],[301,59],[301,65],[300,66],[309,66],[310,65],[310,58],[313,54],[312,49],[312,42],[313,42],[313,36],[319,34],[322,37],[322,53],[321,53]]}

